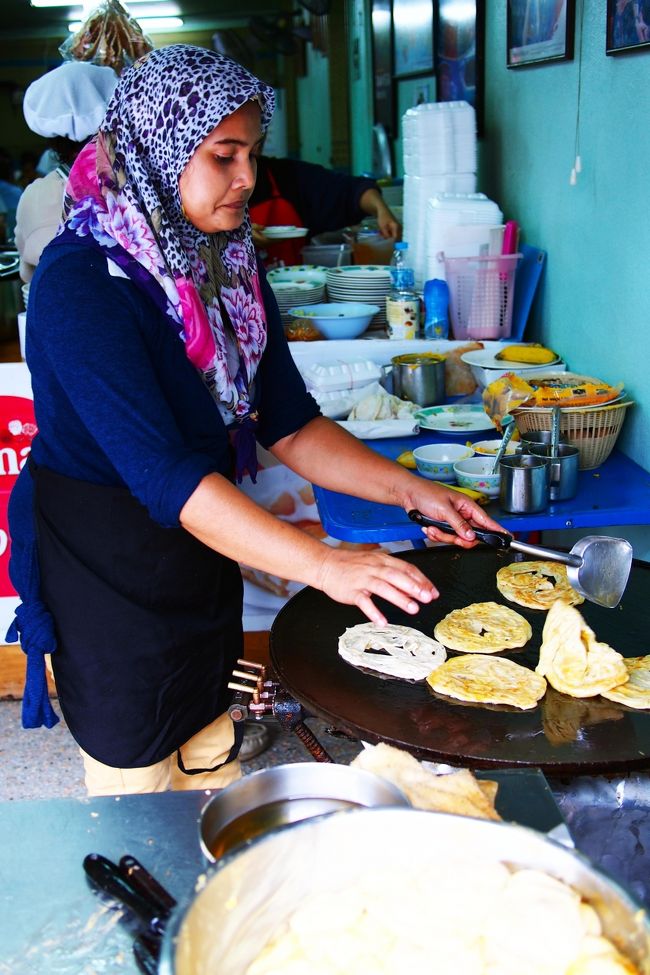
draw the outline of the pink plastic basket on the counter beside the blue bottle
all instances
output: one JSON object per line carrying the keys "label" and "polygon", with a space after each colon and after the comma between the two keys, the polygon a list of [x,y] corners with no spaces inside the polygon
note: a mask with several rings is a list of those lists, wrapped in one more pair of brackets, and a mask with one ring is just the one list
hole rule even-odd
{"label": "pink plastic basket on the counter beside the blue bottle", "polygon": [[512,329],[515,273],[521,254],[445,257],[455,339],[505,339]]}

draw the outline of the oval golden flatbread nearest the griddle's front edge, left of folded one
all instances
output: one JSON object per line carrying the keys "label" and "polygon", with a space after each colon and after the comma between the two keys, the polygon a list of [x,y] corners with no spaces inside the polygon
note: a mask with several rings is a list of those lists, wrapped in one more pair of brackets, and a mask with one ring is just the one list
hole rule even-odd
{"label": "oval golden flatbread nearest the griddle's front edge, left of folded one", "polygon": [[452,657],[427,677],[438,694],[458,701],[509,704],[527,711],[546,692],[546,681],[528,667],[485,654]]}

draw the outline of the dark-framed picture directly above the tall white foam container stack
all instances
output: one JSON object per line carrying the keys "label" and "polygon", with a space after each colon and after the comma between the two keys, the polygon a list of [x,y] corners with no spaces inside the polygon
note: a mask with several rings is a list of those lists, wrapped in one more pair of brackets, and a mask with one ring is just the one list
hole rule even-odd
{"label": "dark-framed picture directly above the tall white foam container stack", "polygon": [[439,102],[465,101],[483,115],[484,0],[438,0],[436,17],[436,92]]}

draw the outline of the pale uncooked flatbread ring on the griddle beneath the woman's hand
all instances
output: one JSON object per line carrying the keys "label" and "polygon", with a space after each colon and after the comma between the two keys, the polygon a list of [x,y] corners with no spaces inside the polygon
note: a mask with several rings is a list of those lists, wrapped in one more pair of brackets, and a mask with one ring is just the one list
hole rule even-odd
{"label": "pale uncooked flatbread ring on the griddle beneath the woman's hand", "polygon": [[339,637],[339,653],[353,667],[389,677],[424,680],[447,659],[445,648],[411,626],[359,623]]}

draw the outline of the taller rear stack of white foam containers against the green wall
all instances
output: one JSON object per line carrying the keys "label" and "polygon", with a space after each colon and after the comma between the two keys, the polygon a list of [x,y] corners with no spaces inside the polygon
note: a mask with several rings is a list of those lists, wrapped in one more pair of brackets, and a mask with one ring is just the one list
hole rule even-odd
{"label": "taller rear stack of white foam containers against the green wall", "polygon": [[467,102],[433,102],[402,117],[404,240],[421,288],[426,267],[427,203],[439,193],[476,190],[476,114]]}

